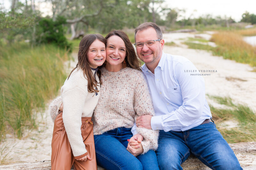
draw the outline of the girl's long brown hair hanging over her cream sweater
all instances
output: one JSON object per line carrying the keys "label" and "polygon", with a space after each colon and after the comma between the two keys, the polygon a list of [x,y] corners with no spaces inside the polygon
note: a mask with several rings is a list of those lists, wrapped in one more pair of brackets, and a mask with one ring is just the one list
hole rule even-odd
{"label": "girl's long brown hair hanging over her cream sweater", "polygon": [[[94,78],[92,69],[89,66],[89,63],[88,63],[87,57],[86,57],[86,53],[88,52],[89,47],[95,40],[99,40],[99,41],[103,42],[106,46],[107,40],[102,35],[100,35],[100,34],[85,35],[79,44],[79,51],[78,51],[78,57],[77,57],[78,62],[76,64],[76,67],[71,71],[71,73],[72,73],[74,70],[76,70],[76,68],[82,69],[84,72],[84,78],[86,78],[88,81],[88,85],[87,85],[88,92],[94,92],[94,93],[99,92],[99,90],[97,90],[97,88],[95,88],[97,86],[98,82]],[[70,77],[71,73],[69,74],[68,78]],[[97,71],[97,75],[100,78],[100,70],[99,69]],[[99,82],[99,83],[101,83],[101,82]]]}

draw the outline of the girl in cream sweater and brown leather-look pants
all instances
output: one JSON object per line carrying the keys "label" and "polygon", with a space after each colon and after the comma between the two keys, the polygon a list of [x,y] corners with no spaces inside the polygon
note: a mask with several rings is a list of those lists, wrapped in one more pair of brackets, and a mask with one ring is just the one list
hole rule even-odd
{"label": "girl in cream sweater and brown leather-look pants", "polygon": [[100,96],[98,66],[105,59],[106,39],[100,34],[84,36],[78,63],[61,87],[64,108],[54,121],[52,170],[70,170],[73,164],[76,170],[97,170],[91,118]]}

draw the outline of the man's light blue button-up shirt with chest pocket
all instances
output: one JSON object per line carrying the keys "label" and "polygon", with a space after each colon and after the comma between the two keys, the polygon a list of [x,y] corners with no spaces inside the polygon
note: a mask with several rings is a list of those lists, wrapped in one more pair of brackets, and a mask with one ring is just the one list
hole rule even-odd
{"label": "man's light blue button-up shirt with chest pocket", "polygon": [[205,99],[204,79],[187,58],[165,54],[155,74],[142,67],[153,100],[156,116],[151,118],[152,129],[184,131],[212,117]]}

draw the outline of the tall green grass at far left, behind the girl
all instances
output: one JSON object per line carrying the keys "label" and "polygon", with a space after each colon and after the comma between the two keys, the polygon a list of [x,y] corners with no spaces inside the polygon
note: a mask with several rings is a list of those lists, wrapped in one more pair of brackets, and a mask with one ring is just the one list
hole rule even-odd
{"label": "tall green grass at far left, behind the girl", "polygon": [[65,81],[67,59],[67,52],[54,45],[0,46],[0,140],[6,133],[20,138],[26,128],[37,127],[35,113]]}

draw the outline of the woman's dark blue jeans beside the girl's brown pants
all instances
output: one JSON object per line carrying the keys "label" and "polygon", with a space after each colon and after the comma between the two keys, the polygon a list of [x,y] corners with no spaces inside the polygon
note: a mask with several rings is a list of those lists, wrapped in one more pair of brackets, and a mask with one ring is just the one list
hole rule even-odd
{"label": "woman's dark blue jeans beside the girl's brown pants", "polygon": [[131,137],[131,128],[124,127],[94,135],[97,165],[107,170],[159,170],[153,150],[137,157],[126,150]]}

